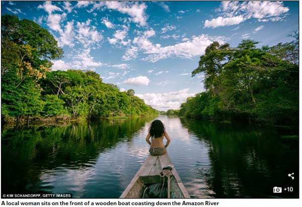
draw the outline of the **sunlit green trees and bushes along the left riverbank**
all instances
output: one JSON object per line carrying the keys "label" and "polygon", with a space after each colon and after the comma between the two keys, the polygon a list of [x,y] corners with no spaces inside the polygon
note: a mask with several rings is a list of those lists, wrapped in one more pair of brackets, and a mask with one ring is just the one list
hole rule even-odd
{"label": "sunlit green trees and bushes along the left riverbank", "polygon": [[50,71],[63,50],[30,20],[2,16],[2,120],[70,120],[157,115],[134,90],[120,92],[94,71]]}

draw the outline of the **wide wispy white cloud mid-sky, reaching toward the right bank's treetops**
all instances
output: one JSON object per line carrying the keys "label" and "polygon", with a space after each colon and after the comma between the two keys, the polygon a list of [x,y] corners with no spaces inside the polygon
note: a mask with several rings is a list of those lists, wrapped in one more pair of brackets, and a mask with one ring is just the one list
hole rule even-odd
{"label": "wide wispy white cloud mid-sky, reaching toward the right bank's treetops", "polygon": [[175,45],[162,47],[160,44],[153,44],[147,38],[138,36],[133,39],[133,43],[143,50],[147,57],[143,60],[149,62],[157,62],[158,60],[165,59],[171,56],[180,58],[192,58],[196,55],[204,54],[205,48],[213,41],[223,43],[223,37],[210,37],[208,35],[192,36],[191,39],[177,43]]}

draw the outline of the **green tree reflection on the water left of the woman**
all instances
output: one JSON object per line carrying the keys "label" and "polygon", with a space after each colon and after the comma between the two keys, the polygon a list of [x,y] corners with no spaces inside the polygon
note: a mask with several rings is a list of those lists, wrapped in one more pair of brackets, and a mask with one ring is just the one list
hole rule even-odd
{"label": "green tree reflection on the water left of the woman", "polygon": [[91,167],[100,153],[131,141],[133,134],[151,119],[7,128],[2,132],[2,192],[40,192],[42,172],[58,167]]}

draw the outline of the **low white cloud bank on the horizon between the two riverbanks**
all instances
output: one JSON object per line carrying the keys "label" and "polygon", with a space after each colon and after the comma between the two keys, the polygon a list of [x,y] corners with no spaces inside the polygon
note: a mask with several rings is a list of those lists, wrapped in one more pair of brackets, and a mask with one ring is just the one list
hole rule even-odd
{"label": "low white cloud bank on the horizon between the two riverbanks", "polygon": [[142,98],[146,105],[149,105],[159,111],[167,111],[169,109],[179,109],[182,102],[187,97],[194,96],[194,93],[189,93],[189,88],[169,93],[145,93],[135,94]]}

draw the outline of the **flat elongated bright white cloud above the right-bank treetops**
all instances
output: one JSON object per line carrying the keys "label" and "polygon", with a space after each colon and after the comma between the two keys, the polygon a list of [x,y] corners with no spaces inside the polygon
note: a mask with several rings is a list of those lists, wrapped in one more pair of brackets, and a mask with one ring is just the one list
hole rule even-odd
{"label": "flat elongated bright white cloud above the right-bank treetops", "polygon": [[222,26],[229,26],[229,25],[238,25],[245,21],[245,19],[242,16],[237,17],[217,17],[216,19],[212,20],[206,20],[204,23],[204,27],[222,27]]}

